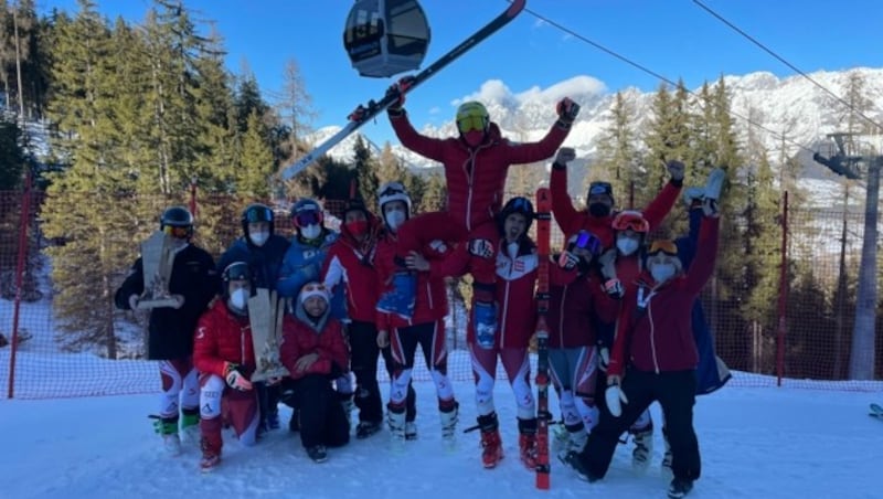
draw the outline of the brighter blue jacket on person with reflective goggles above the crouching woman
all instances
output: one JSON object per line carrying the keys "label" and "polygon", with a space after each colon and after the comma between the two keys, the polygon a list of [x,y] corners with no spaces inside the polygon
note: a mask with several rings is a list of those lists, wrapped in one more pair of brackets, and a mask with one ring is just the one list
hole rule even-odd
{"label": "brighter blue jacket on person with reflective goggles above the crouching woman", "polygon": [[[340,233],[328,229],[322,230],[322,235],[315,241],[302,240],[295,234],[291,245],[283,257],[283,267],[276,290],[279,296],[296,298],[300,288],[312,280],[321,280],[321,270],[328,248],[340,237]],[[331,297],[331,317],[347,319],[347,297],[342,287],[338,287]]]}

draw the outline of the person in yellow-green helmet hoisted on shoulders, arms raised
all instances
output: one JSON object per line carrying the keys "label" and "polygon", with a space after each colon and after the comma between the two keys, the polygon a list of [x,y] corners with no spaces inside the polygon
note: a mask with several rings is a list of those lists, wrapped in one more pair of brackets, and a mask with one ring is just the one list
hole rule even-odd
{"label": "person in yellow-green helmet hoisted on shoulders, arms raised", "polygon": [[[401,85],[396,84],[396,85]],[[394,86],[395,87],[395,86]],[[398,87],[394,88],[398,92]],[[402,95],[402,99],[404,95]],[[497,329],[493,302],[496,248],[498,238],[494,216],[502,205],[509,167],[531,163],[551,157],[570,132],[579,107],[570,98],[557,105],[558,119],[539,142],[517,144],[504,139],[487,109],[477,102],[467,102],[457,109],[458,137],[436,139],[418,134],[407,119],[403,102],[387,108],[390,123],[402,145],[436,161],[445,169],[447,211],[414,219],[398,231],[400,265],[411,251],[419,251],[424,242],[412,227],[429,225],[438,233],[432,240],[468,242],[472,258],[468,270],[474,278],[476,304],[472,309],[479,328],[492,333]],[[419,220],[419,222],[416,222]],[[403,268],[404,272],[404,268]],[[396,279],[397,293],[387,293],[377,302],[380,310],[409,316],[414,297],[402,291],[408,274]],[[413,279],[413,275],[409,276]]]}

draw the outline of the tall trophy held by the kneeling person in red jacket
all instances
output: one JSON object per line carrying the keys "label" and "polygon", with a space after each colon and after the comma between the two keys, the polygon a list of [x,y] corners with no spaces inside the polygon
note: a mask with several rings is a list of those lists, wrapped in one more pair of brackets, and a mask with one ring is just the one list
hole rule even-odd
{"label": "tall trophy held by the kneeling person in red jacket", "polygon": [[248,298],[248,321],[252,326],[252,342],[257,364],[252,381],[288,375],[288,370],[279,358],[283,317],[285,317],[285,300],[280,300],[275,290],[257,288],[255,296]]}

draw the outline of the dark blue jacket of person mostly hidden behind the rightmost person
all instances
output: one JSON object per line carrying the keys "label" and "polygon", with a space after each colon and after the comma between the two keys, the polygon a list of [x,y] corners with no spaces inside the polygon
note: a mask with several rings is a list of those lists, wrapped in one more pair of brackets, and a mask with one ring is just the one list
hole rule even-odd
{"label": "dark blue jacket of person mostly hidden behind the rightmost person", "polygon": [[[678,245],[678,257],[681,259],[684,270],[690,268],[693,256],[696,253],[696,241],[699,240],[699,227],[702,222],[702,209],[693,208],[690,210],[690,232],[685,237],[679,237],[674,244]],[[691,310],[691,327],[693,329],[693,341],[699,351],[699,365],[696,367],[696,395],[704,395],[720,389],[727,381],[731,374],[726,364],[714,354],[714,339],[711,333],[709,322],[705,320],[705,312],[702,309],[702,301],[696,299]]]}

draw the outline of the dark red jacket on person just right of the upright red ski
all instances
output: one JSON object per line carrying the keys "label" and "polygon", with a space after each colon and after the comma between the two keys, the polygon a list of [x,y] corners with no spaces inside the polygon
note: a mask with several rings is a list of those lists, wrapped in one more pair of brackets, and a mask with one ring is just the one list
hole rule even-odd
{"label": "dark red jacket on person just right of the upright red ski", "polygon": [[578,275],[549,263],[549,348],[594,347],[595,320],[613,322],[619,301],[602,289],[595,272]]}

